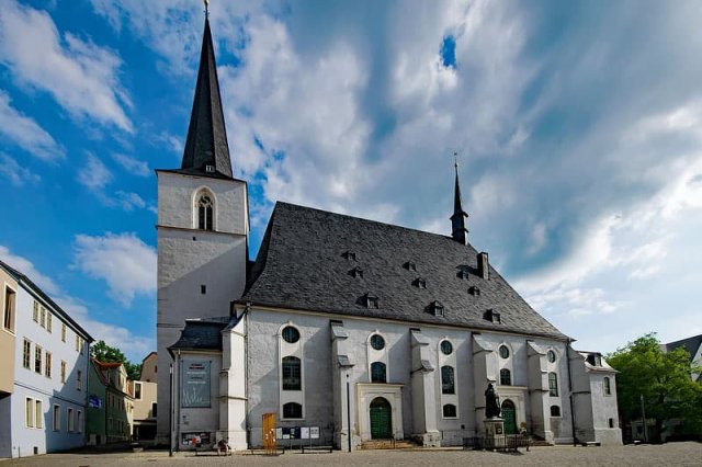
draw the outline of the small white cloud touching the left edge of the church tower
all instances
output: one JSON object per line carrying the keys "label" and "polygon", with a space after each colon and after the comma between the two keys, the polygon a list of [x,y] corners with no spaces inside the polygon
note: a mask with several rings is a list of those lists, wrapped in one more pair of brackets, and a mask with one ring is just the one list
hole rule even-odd
{"label": "small white cloud touching the left edge of the church tower", "polygon": [[109,295],[122,305],[156,292],[156,250],[135,234],[78,235],[73,250],[73,266],[105,281]]}

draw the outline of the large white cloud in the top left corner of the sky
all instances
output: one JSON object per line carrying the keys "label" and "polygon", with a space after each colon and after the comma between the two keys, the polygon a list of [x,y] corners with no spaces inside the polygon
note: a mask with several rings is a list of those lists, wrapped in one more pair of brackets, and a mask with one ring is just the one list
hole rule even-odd
{"label": "large white cloud in the top left corner of the sky", "polygon": [[125,112],[131,100],[118,78],[121,58],[70,33],[61,38],[47,12],[3,2],[0,62],[18,82],[49,92],[71,115],[134,130]]}

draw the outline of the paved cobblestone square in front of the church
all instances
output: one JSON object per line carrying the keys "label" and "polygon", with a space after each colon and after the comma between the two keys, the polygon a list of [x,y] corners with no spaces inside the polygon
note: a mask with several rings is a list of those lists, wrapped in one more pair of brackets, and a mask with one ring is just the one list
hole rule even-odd
{"label": "paved cobblestone square in front of the church", "polygon": [[532,447],[520,454],[474,451],[361,451],[352,454],[299,454],[288,452],[276,457],[236,454],[231,457],[197,456],[155,451],[143,453],[48,454],[23,459],[0,460],[0,467],[59,466],[702,466],[702,444],[669,443],[664,445],[618,447]]}

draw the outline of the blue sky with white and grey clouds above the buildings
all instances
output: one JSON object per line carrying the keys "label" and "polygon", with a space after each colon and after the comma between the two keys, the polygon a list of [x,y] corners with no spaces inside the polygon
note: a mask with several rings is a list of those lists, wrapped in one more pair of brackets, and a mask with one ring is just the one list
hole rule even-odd
{"label": "blue sky with white and grey clouds above the buildings", "polygon": [[[156,175],[200,0],[1,0],[0,259],[97,340],[156,350]],[[610,352],[702,333],[702,3],[225,1],[210,21],[250,255],[276,201],[469,241]]]}

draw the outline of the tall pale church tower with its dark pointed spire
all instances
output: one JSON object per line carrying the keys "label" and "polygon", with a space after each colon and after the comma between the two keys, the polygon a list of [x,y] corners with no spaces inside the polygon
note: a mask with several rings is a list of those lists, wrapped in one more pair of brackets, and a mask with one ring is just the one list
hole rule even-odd
{"label": "tall pale church tower with its dark pointed spire", "polygon": [[[200,69],[180,169],[158,178],[158,426],[168,443],[168,348],[185,319],[226,317],[246,286],[249,215],[247,184],[233,178],[210,21],[205,16]],[[174,387],[177,381],[174,381]]]}

